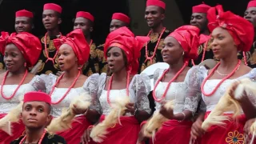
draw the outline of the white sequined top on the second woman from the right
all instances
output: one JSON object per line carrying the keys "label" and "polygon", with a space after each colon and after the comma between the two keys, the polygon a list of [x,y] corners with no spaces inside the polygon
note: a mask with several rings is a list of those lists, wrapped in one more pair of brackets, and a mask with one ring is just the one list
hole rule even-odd
{"label": "white sequined top on the second woman from the right", "polygon": [[[184,79],[184,82],[172,82],[170,85],[169,90],[167,91],[166,98],[164,98],[162,101],[170,101],[174,100],[174,114],[181,113],[183,110],[190,110],[192,114],[194,114],[198,107],[198,102],[200,101],[200,92],[197,92],[194,94],[194,102],[191,102],[190,98],[187,98],[188,94],[188,85],[190,83],[190,77],[193,77],[191,72],[194,68],[191,68],[187,74],[186,78]],[[163,69],[158,69],[154,72],[154,85],[156,84],[158,78],[160,78],[163,74]],[[155,94],[157,98],[161,98],[162,94],[164,94],[166,90],[166,86],[168,85],[168,82],[159,82],[158,86],[156,87]],[[161,108],[161,102],[155,102],[155,109],[160,110]]]}

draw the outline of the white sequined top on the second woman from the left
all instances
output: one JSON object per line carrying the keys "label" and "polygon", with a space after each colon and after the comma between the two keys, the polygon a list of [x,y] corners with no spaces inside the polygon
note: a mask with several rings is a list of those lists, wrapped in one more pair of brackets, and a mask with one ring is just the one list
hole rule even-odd
{"label": "white sequined top on the second woman from the left", "polygon": [[[45,81],[46,81],[46,93],[50,94],[50,91],[52,90],[55,82],[57,81],[58,77],[54,74],[42,74],[40,75]],[[54,117],[58,117],[62,114],[62,109],[67,108],[70,106],[70,102],[72,101],[72,98],[74,96],[78,96],[79,94],[88,92],[91,96],[90,102],[90,109],[97,110],[100,112],[100,104],[98,102],[97,98],[97,92],[98,92],[98,74],[92,74],[89,78],[86,79],[86,82],[83,84],[82,87],[78,88],[72,88],[70,92],[66,95],[66,97],[62,100],[62,102],[59,102],[58,104],[53,104],[53,110],[52,115]],[[52,102],[58,102],[60,98],[66,93],[68,88],[54,88],[53,94],[51,94]],[[79,115],[77,115],[79,116]]]}

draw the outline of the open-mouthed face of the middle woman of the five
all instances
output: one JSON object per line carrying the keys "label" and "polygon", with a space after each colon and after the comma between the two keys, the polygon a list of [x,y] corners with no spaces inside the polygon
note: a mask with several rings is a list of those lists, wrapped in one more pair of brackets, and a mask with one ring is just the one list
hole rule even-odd
{"label": "open-mouthed face of the middle woman of the five", "polygon": [[126,67],[125,55],[120,48],[111,47],[106,56],[106,62],[111,73],[115,73]]}

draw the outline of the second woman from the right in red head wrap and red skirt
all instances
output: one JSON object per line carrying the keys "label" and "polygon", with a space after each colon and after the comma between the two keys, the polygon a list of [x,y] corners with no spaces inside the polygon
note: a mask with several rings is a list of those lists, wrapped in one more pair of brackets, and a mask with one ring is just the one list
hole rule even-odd
{"label": "second woman from the right in red head wrap and red skirt", "polygon": [[[154,72],[153,97],[156,104],[154,114],[160,111],[160,114],[170,120],[163,123],[155,138],[150,139],[150,143],[180,144],[190,141],[192,118],[200,97],[198,97],[197,91],[194,94],[187,94],[190,86],[194,85],[194,75],[191,73],[197,69],[197,67],[190,69],[188,62],[198,56],[199,31],[196,26],[181,26],[163,42],[162,59],[170,67]],[[172,100],[175,101],[174,110],[168,111],[162,106],[162,102]],[[146,131],[151,133],[147,125],[144,125],[141,134]]]}

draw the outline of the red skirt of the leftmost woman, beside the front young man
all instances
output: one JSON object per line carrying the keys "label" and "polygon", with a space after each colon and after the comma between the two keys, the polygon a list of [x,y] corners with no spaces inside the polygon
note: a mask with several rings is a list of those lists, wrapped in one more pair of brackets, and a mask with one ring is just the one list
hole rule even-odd
{"label": "red skirt of the leftmost woman, beside the front young man", "polygon": [[[0,119],[3,118],[4,116],[6,116],[6,114],[0,114]],[[19,122],[13,122],[11,126],[12,126],[12,134],[13,134],[11,136],[7,134],[5,131],[0,130],[1,144],[10,144],[10,142],[22,136],[23,132],[25,131],[25,126],[22,120],[20,120]]]}

